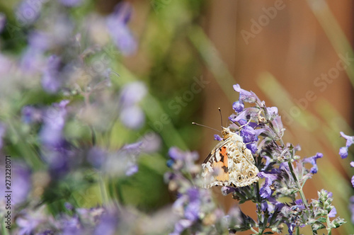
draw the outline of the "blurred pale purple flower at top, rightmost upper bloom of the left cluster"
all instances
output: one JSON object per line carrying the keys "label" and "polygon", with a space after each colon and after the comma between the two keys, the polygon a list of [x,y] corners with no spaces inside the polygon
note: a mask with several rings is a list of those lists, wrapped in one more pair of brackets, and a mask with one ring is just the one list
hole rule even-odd
{"label": "blurred pale purple flower at top, rightmost upper bloom of the left cluster", "polygon": [[115,11],[107,18],[107,26],[113,42],[123,55],[132,55],[137,50],[137,42],[127,27],[131,12],[130,4],[123,2],[118,4]]}

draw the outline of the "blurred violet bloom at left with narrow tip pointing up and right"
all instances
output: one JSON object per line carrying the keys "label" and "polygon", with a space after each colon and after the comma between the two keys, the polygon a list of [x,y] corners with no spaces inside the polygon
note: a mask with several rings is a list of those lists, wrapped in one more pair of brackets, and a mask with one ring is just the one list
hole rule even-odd
{"label": "blurred violet bloom at left with narrow tip pointing up and right", "polygon": [[69,101],[54,103],[43,116],[44,125],[40,130],[40,141],[47,147],[55,147],[62,142],[62,130],[67,115],[66,106]]}

